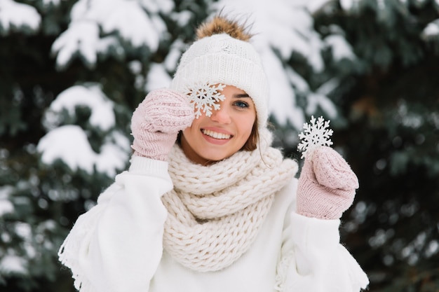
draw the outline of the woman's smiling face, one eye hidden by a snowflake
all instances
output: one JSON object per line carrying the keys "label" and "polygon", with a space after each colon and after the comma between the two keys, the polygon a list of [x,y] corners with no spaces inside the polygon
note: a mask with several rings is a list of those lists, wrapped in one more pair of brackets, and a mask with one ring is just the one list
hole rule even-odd
{"label": "woman's smiling face, one eye hidden by a snowflake", "polygon": [[256,109],[243,90],[227,85],[212,116],[203,113],[183,131],[181,145],[187,158],[201,165],[228,158],[239,151],[252,132]]}

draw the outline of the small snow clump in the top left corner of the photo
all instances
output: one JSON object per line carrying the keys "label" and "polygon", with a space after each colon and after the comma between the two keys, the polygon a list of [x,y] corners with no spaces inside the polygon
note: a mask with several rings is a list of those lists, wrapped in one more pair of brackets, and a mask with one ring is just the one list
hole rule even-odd
{"label": "small snow clump in the top left corner of the photo", "polygon": [[34,7],[13,0],[0,0],[0,7],[0,27],[6,32],[13,27],[39,28],[41,16]]}

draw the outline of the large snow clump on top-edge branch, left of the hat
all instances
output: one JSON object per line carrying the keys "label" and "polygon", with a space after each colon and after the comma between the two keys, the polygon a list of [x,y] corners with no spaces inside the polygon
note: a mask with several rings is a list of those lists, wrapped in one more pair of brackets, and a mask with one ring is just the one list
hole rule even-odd
{"label": "large snow clump on top-edge branch, left of the hat", "polygon": [[67,66],[76,53],[84,58],[88,66],[95,65],[97,55],[106,53],[110,47],[106,39],[108,36],[101,39],[101,34],[120,36],[121,40],[111,39],[111,45],[116,48],[121,41],[126,41],[135,48],[146,46],[152,52],[156,51],[167,31],[163,20],[152,12],[166,13],[172,10],[173,5],[172,0],[77,1],[70,15],[72,22],[53,43],[52,51],[57,55],[58,67]]}

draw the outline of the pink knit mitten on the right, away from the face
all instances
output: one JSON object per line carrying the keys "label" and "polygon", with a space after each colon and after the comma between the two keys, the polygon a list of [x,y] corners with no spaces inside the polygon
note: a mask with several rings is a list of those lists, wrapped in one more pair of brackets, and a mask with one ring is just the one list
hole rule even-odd
{"label": "pink knit mitten on the right, away from the face", "polygon": [[320,219],[338,219],[348,209],[358,179],[346,160],[327,146],[305,159],[297,188],[297,213]]}

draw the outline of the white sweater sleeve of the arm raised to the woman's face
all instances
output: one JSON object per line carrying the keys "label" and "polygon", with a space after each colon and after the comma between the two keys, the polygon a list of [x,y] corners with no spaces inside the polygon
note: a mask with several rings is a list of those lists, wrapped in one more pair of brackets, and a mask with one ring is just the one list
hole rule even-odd
{"label": "white sweater sleeve of the arm raised to the woman's face", "polygon": [[161,196],[172,188],[167,162],[133,157],[129,171],[79,216],[60,247],[76,289],[148,291],[163,251],[167,211]]}

